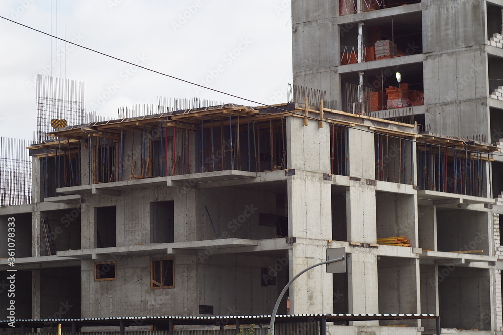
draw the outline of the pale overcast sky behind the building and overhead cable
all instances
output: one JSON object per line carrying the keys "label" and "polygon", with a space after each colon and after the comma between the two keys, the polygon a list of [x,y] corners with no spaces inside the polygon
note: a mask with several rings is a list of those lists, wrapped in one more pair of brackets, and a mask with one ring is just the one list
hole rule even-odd
{"label": "pale overcast sky behind the building and overhead cable", "polygon": [[[162,73],[278,103],[287,101],[292,81],[290,6],[289,0],[2,0],[0,15]],[[86,111],[105,116],[117,116],[120,106],[157,103],[159,95],[253,105],[133,71],[4,19],[0,55],[0,136],[33,138],[36,74],[85,82]]]}

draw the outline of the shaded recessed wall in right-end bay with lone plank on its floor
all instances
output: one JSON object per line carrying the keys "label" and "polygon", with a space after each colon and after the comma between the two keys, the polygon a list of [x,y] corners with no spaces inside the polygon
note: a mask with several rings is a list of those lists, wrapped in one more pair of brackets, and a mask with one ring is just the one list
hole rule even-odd
{"label": "shaded recessed wall in right-end bay with lone plank on its floor", "polygon": [[493,255],[488,215],[469,210],[437,210],[438,250],[483,250],[480,254]]}

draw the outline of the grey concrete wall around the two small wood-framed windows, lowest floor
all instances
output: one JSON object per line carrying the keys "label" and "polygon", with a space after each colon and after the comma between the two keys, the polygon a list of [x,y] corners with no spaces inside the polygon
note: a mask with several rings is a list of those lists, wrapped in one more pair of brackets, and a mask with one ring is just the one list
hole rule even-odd
{"label": "grey concrete wall around the two small wood-framed windows, lowest floor", "polygon": [[[150,288],[150,261],[174,258],[174,287]],[[117,279],[94,280],[94,263],[116,261]],[[82,260],[82,317],[197,315],[196,256],[125,256]]]}

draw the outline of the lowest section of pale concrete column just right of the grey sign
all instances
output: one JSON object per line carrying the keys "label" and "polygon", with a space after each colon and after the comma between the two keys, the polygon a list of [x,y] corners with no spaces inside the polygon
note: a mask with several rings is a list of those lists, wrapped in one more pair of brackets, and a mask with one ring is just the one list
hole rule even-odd
{"label": "lowest section of pale concrete column just right of the grey sign", "polygon": [[[348,257],[348,309],[353,314],[379,313],[377,255],[352,253]],[[353,325],[378,325],[378,321],[353,322]]]}

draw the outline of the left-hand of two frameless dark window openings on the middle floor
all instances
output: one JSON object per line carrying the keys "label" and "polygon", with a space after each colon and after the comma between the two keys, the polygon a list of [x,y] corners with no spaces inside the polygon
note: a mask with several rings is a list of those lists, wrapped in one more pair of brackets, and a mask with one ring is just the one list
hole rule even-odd
{"label": "left-hand of two frameless dark window openings on the middle floor", "polygon": [[97,248],[116,247],[117,209],[116,206],[95,208]]}

